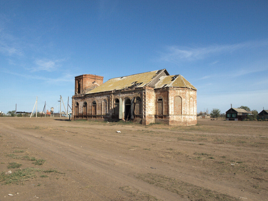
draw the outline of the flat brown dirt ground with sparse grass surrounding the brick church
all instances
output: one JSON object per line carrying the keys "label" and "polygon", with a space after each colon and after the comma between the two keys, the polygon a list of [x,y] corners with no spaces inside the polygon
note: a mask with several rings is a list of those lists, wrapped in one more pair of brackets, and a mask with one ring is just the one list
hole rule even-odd
{"label": "flat brown dirt ground with sparse grass surrounding the brick church", "polygon": [[0,128],[1,201],[268,200],[268,122],[1,117]]}

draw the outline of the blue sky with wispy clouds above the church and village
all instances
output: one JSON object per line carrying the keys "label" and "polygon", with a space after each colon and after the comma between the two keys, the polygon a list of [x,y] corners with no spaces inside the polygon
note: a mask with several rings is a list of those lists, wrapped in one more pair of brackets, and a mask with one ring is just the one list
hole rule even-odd
{"label": "blue sky with wispy clouds above the church and village", "polygon": [[[167,69],[197,111],[268,109],[268,1],[0,1],[0,111],[67,105],[74,77]],[[71,103],[69,102],[69,105]]]}

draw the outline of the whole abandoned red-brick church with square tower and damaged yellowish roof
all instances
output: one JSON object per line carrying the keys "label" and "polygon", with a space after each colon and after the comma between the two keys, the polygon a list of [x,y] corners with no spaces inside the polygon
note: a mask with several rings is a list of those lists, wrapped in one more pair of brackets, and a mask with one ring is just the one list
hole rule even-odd
{"label": "whole abandoned red-brick church with square tower and damaged yellowish roof", "polygon": [[196,88],[181,75],[166,69],[110,79],[75,77],[73,119],[131,120],[143,125],[196,124]]}

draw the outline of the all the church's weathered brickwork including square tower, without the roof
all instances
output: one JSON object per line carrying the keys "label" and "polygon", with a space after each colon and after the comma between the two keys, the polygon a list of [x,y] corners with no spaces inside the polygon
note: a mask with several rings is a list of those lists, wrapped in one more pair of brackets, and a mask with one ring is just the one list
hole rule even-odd
{"label": "all the church's weathered brickwork including square tower, without the roof", "polygon": [[72,97],[74,120],[122,119],[144,125],[158,122],[185,126],[196,124],[196,90],[192,88],[143,86],[85,93],[85,89],[92,88],[92,82],[95,80],[100,84],[103,77],[94,75],[75,77],[76,94]]}

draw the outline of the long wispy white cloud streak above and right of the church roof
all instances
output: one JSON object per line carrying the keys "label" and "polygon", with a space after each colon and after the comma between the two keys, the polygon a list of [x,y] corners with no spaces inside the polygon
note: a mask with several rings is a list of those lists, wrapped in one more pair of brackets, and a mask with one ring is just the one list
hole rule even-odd
{"label": "long wispy white cloud streak above and right of the church roof", "polygon": [[[211,45],[207,47],[180,47],[180,46],[168,46],[166,53],[163,53],[161,60],[179,64],[181,60],[194,61],[208,58],[215,54],[232,53],[239,49],[249,49],[253,47],[267,46],[268,40],[244,42],[229,45]],[[215,64],[212,62],[210,65]]]}

